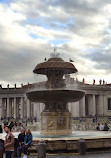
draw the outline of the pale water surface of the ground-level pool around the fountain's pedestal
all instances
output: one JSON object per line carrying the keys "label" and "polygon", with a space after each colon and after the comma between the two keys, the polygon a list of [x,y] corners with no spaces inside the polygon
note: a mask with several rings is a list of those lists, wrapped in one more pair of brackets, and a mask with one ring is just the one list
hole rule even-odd
{"label": "pale water surface of the ground-level pool around the fountain's pedestal", "polygon": [[[15,138],[18,138],[20,132],[13,132]],[[42,135],[40,131],[32,131],[33,140],[76,140],[80,138],[84,139],[101,139],[111,138],[111,131],[72,131],[70,135]],[[0,134],[0,139],[5,139],[6,133]]]}

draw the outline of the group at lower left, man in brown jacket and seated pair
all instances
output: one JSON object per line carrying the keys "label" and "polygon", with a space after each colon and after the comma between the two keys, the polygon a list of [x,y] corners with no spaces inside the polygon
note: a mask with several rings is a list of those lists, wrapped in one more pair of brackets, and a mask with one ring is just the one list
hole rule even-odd
{"label": "group at lower left, man in brown jacket and seated pair", "polygon": [[11,131],[12,127],[11,124],[4,124],[6,136],[4,141],[0,140],[0,142],[3,141],[3,150],[5,151],[6,158],[12,158],[13,154],[15,154],[17,158],[20,158],[22,152],[24,153],[23,158],[26,158],[27,155],[29,155],[28,148],[33,145],[32,133],[30,129],[25,130],[25,128],[21,127],[18,138],[14,138]]}

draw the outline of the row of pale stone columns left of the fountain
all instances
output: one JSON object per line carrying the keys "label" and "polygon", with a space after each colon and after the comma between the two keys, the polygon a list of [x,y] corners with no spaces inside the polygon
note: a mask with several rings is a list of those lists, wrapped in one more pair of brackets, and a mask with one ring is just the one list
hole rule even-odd
{"label": "row of pale stone columns left of the fountain", "polygon": [[34,117],[34,105],[25,97],[0,98],[0,118]]}

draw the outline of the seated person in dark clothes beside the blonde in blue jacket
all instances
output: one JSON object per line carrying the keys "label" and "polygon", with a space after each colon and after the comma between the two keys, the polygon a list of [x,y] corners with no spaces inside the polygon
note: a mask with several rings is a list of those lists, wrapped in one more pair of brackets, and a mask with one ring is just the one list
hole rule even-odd
{"label": "seated person in dark clothes beside the blonde in blue jacket", "polygon": [[25,128],[21,128],[21,133],[18,135],[19,146],[17,147],[17,158],[21,156],[21,152],[24,146]]}

